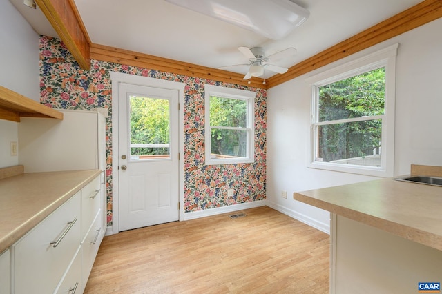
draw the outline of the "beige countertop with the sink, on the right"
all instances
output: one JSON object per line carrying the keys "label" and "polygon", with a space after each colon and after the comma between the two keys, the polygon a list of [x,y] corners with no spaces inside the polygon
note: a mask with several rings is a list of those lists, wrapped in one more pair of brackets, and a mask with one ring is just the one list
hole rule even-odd
{"label": "beige countertop with the sink, on the right", "polygon": [[309,190],[293,197],[442,251],[442,187],[390,178]]}

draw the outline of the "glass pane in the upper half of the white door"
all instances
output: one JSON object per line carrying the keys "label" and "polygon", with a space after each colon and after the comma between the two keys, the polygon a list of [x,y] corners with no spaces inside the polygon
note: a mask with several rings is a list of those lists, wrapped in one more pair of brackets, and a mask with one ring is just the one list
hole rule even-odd
{"label": "glass pane in the upper half of the white door", "polygon": [[170,159],[170,101],[130,95],[131,161]]}

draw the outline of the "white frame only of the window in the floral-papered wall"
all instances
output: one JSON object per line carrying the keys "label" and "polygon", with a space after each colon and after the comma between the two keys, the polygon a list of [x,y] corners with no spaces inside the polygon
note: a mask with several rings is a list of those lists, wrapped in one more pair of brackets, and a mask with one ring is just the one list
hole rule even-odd
{"label": "white frame only of the window in the floral-papered wall", "polygon": [[[255,161],[255,97],[256,92],[226,88],[214,85],[204,86],[205,98],[205,164],[247,164]],[[211,158],[211,124],[210,124],[210,97],[217,96],[229,99],[240,99],[247,101],[247,155],[240,158]],[[227,128],[227,127],[226,127]],[[241,129],[244,128],[229,128]]]}

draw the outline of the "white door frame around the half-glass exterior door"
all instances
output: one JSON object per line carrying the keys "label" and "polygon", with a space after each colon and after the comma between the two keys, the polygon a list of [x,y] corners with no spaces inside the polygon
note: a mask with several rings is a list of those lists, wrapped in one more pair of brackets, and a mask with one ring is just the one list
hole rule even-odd
{"label": "white door frame around the half-glass exterior door", "polygon": [[[122,72],[110,72],[112,81],[112,226],[108,227],[106,235],[113,235],[119,233],[119,84],[133,84],[139,86],[148,86],[153,88],[163,88],[178,91],[178,104],[180,105],[178,118],[178,150],[180,153],[180,163],[178,170],[178,190],[179,190],[179,218],[184,220],[184,86],[186,84],[177,81],[166,81],[164,79],[155,79],[152,77],[142,77],[138,75],[129,75]],[[177,154],[171,156],[178,156]],[[111,231],[109,231],[111,228]]]}

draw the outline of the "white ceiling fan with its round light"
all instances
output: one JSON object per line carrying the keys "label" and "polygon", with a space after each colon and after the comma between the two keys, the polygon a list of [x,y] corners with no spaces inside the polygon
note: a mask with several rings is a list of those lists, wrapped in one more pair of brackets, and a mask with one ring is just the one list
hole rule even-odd
{"label": "white ceiling fan with its round light", "polygon": [[251,77],[260,77],[264,75],[264,70],[270,70],[277,73],[285,73],[288,68],[281,66],[275,66],[270,62],[277,61],[284,58],[292,57],[296,54],[295,48],[287,48],[275,54],[265,56],[264,48],[262,47],[238,47],[238,50],[249,59],[250,63],[236,64],[234,66],[222,66],[220,69],[231,68],[235,66],[249,66],[249,71],[244,76],[244,79],[250,79]]}

